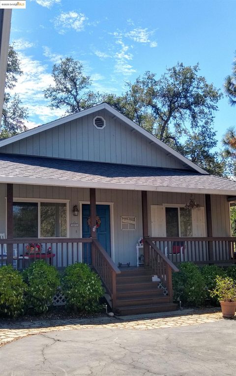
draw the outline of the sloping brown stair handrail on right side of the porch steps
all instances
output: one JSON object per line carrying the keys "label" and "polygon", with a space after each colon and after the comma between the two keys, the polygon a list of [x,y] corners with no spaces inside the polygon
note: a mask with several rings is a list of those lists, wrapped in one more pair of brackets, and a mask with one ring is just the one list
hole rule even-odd
{"label": "sloping brown stair handrail on right side of the porch steps", "polygon": [[149,246],[147,266],[154,275],[160,278],[163,287],[166,287],[168,290],[170,303],[173,303],[172,271],[178,272],[178,268],[149,238],[145,238],[145,242]]}

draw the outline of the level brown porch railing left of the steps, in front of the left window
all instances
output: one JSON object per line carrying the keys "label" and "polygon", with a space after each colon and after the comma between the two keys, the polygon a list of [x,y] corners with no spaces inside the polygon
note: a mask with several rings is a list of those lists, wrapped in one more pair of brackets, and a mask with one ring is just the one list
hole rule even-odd
{"label": "level brown porch railing left of the steps, in front of the left window", "polygon": [[[0,239],[0,266],[24,269],[29,260],[48,259],[57,269],[90,259],[91,238]],[[30,248],[30,244],[35,247]],[[36,244],[38,247],[36,247]]]}

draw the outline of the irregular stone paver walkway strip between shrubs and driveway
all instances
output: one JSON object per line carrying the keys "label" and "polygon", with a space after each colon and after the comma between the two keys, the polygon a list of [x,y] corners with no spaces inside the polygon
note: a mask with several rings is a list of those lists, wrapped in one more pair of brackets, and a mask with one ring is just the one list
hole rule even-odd
{"label": "irregular stone paver walkway strip between shrubs and driveway", "polygon": [[43,320],[43,321],[20,321],[16,324],[7,324],[0,321],[0,346],[17,339],[55,330],[72,330],[88,328],[120,328],[149,330],[158,328],[171,328],[177,326],[199,325],[222,319],[221,312],[193,311],[191,314],[182,314],[181,311],[175,316],[148,317],[139,319],[126,319],[121,321],[117,317],[99,317],[90,319],[68,319],[68,320]]}

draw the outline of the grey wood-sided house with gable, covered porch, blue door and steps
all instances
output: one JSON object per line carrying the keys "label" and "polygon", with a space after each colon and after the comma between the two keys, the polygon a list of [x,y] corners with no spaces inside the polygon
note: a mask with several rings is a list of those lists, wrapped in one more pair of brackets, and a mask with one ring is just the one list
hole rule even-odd
{"label": "grey wood-sided house with gable, covered porch, blue door and steps", "polygon": [[0,265],[85,261],[114,310],[172,310],[179,262],[236,261],[235,196],[101,103],[0,141]]}

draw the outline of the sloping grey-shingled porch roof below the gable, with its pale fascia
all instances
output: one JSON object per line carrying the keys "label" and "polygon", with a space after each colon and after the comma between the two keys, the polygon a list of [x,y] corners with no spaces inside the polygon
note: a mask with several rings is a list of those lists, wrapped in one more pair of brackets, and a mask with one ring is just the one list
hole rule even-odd
{"label": "sloping grey-shingled porch roof below the gable, with its pale fascia", "polygon": [[236,195],[236,182],[194,171],[12,154],[0,183]]}

